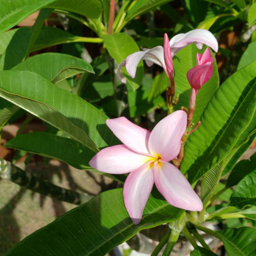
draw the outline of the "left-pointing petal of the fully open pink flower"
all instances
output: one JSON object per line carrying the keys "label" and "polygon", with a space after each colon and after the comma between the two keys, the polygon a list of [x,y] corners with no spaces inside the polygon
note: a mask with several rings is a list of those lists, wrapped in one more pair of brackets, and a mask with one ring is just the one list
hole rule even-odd
{"label": "left-pointing petal of the fully open pink flower", "polygon": [[98,152],[89,165],[102,172],[122,174],[138,169],[149,160],[152,158],[137,154],[125,145],[116,145]]}

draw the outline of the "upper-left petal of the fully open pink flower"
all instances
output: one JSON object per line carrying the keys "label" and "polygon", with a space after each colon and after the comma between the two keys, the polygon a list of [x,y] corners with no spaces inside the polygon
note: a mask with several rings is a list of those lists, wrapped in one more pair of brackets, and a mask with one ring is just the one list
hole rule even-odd
{"label": "upper-left petal of the fully open pink flower", "polygon": [[133,124],[125,117],[108,119],[106,124],[128,148],[137,153],[149,154],[147,145],[150,131]]}

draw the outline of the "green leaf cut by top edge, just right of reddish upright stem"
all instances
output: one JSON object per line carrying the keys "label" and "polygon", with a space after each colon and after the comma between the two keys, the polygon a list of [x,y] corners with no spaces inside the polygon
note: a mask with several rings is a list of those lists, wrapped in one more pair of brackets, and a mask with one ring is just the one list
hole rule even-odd
{"label": "green leaf cut by top edge, just right of reddish upright stem", "polygon": [[136,16],[142,15],[150,10],[157,8],[160,5],[171,2],[173,0],[140,0],[137,1],[128,11],[125,20],[128,22]]}

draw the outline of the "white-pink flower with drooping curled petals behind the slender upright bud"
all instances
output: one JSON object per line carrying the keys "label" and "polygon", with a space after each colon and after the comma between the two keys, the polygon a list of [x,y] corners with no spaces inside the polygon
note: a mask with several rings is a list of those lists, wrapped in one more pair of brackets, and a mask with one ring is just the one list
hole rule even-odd
{"label": "white-pink flower with drooping curled petals behind the slender upright bud", "polygon": [[[190,43],[196,43],[196,46],[199,49],[202,49],[203,44],[206,44],[215,52],[218,51],[218,42],[210,31],[205,29],[194,29],[185,34],[177,34],[170,40],[169,44],[172,57]],[[165,70],[167,76],[169,75],[164,59],[163,47],[159,45],[152,49],[143,49],[143,51],[135,52],[119,64],[117,68],[117,76],[123,83],[126,82],[126,79],[121,75],[121,68],[125,66],[129,75],[134,78],[140,60],[145,60],[149,67],[151,67],[153,63],[161,66]]]}

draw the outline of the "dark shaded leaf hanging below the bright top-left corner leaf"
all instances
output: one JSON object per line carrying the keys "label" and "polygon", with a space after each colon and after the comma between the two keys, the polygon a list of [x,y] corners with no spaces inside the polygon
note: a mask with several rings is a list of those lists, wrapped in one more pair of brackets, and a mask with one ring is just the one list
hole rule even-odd
{"label": "dark shaded leaf hanging below the bright top-left corner leaf", "polygon": [[9,45],[1,57],[1,69],[11,69],[28,57],[44,24],[44,20],[52,11],[52,9],[42,9],[31,28],[15,30]]}

